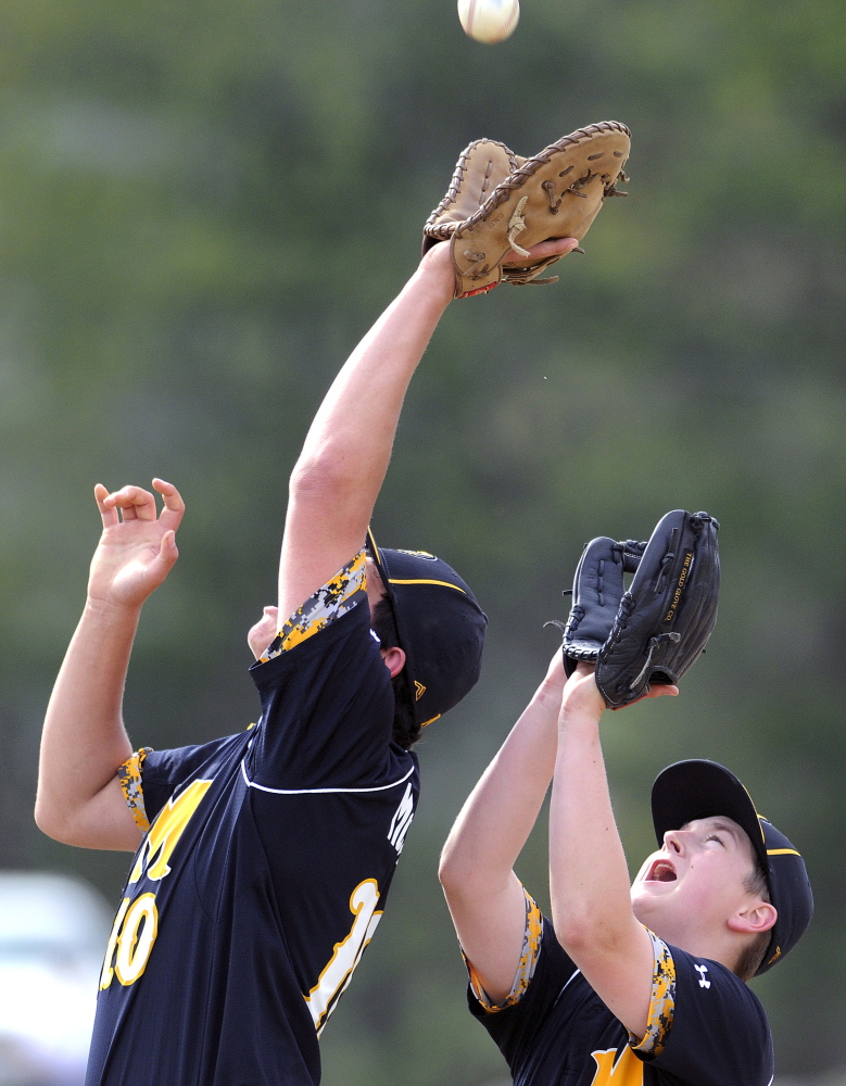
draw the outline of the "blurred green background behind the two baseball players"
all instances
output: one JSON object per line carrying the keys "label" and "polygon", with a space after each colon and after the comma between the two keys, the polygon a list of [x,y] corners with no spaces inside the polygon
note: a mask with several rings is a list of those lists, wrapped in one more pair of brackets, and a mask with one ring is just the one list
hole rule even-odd
{"label": "blurred green background behind the two baseball players", "polygon": [[[756,982],[776,1083],[841,1083],[846,740],[846,22],[834,0],[525,0],[491,48],[453,0],[7,0],[0,35],[0,866],[126,858],[36,830],[40,718],[81,608],[91,487],[176,482],[181,558],[142,620],[136,744],[254,719],[287,477],[334,369],[413,270],[458,152],[633,132],[561,281],[447,312],[376,528],[442,554],[490,619],[483,680],[420,744],[392,906],[324,1035],[325,1083],[490,1086],[435,881],[530,695],[593,535],[722,521],[720,621],[678,700],[609,715],[633,867],[667,762],[733,767],[804,850],[817,915]],[[557,269],[556,269],[557,270]],[[543,900],[539,826],[521,874]]]}

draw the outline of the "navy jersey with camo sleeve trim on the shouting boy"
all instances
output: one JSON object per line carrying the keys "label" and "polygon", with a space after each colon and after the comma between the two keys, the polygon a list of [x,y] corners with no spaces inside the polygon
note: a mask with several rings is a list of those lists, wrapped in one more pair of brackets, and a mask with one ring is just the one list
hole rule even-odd
{"label": "navy jersey with camo sleeve trim on the shouting boy", "polygon": [[756,996],[724,965],[653,943],[662,952],[656,952],[651,1031],[640,1043],[585,981],[546,919],[534,973],[514,999],[491,1009],[471,986],[470,1010],[517,1086],[770,1086],[772,1043]]}

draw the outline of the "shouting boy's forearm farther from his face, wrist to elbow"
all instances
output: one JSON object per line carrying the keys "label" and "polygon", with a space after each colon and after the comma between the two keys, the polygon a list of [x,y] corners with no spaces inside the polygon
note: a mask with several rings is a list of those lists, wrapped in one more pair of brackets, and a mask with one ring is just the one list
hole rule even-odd
{"label": "shouting boy's forearm farther from his face, wrist to elbow", "polygon": [[464,805],[444,845],[447,899],[503,885],[552,780],[561,682],[547,677]]}

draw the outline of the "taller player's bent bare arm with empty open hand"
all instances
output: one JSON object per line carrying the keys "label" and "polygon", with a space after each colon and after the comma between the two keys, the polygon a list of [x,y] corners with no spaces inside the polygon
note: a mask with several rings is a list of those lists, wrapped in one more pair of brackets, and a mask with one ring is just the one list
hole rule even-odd
{"label": "taller player's bent bare arm with empty open hand", "polygon": [[161,516],[149,491],[94,488],[103,532],[45,718],[35,812],[48,836],[68,845],[134,851],[141,839],[116,776],[131,754],[124,682],[143,602],[177,559],[185,509],[171,483],[153,487],[164,498]]}

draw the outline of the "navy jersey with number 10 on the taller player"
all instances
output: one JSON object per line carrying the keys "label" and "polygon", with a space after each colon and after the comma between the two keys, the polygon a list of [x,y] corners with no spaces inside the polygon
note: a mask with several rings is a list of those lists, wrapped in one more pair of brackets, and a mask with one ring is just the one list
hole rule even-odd
{"label": "navy jersey with number 10 on the taller player", "polygon": [[[258,725],[152,752],[87,1086],[312,1086],[414,815],[366,599],[252,674]],[[154,820],[153,820],[154,819]]]}

